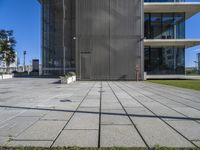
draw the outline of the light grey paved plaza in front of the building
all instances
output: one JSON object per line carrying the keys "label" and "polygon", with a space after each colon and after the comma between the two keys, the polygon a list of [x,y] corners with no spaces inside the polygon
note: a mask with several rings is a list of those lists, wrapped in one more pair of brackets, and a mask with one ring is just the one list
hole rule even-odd
{"label": "light grey paved plaza in front of the building", "polygon": [[1,146],[200,146],[198,91],[148,82],[57,81],[0,81]]}

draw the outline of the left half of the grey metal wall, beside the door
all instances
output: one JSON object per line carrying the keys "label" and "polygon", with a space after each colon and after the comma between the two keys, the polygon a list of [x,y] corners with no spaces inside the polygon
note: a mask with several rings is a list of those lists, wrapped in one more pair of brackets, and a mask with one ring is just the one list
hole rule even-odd
{"label": "left half of the grey metal wall, beside the door", "polygon": [[[91,79],[109,78],[109,1],[76,1],[76,36],[78,57],[82,52],[91,54]],[[78,68],[83,64],[80,63]],[[84,74],[81,69],[80,74]],[[82,79],[82,75],[80,75]]]}

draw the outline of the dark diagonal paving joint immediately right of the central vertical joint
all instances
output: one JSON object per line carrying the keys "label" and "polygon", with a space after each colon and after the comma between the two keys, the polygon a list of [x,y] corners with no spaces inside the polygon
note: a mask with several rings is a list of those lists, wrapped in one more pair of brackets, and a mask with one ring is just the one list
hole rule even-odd
{"label": "dark diagonal paving joint immediately right of the central vertical joint", "polygon": [[121,101],[119,100],[118,96],[116,95],[116,93],[114,92],[114,90],[112,89],[112,87],[110,86],[110,84],[107,82],[108,86],[110,87],[112,93],[115,95],[116,99],[118,100],[118,102],[120,103],[121,107],[123,108],[123,110],[126,113],[126,116],[129,118],[129,120],[131,121],[132,125],[134,126],[134,128],[136,129],[137,133],[139,134],[139,136],[141,137],[142,141],[144,142],[144,144],[146,145],[146,147],[150,150],[149,145],[147,144],[146,140],[144,139],[144,137],[142,136],[142,134],[140,133],[139,129],[137,128],[137,126],[135,125],[135,123],[133,122],[133,120],[131,119],[130,115],[128,114],[128,112],[126,111],[126,109],[124,108],[123,104],[121,103]]}

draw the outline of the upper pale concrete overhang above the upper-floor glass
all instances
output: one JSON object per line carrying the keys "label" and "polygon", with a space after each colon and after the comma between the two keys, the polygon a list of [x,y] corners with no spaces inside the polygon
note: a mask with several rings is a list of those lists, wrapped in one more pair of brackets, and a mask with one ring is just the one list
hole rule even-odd
{"label": "upper pale concrete overhang above the upper-floor glass", "polygon": [[145,13],[185,12],[186,19],[200,12],[200,2],[144,3]]}

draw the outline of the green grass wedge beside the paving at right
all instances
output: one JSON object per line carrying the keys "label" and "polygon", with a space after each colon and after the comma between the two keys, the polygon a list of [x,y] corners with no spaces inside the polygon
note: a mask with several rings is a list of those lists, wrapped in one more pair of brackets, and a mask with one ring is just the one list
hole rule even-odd
{"label": "green grass wedge beside the paving at right", "polygon": [[200,80],[148,80],[148,82],[200,91]]}

